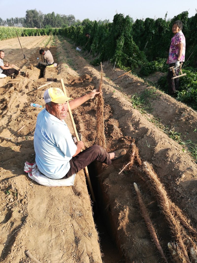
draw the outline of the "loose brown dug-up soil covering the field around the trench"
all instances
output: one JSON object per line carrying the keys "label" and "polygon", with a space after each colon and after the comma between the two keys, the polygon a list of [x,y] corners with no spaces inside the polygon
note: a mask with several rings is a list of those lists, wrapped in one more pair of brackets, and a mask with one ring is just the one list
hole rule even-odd
{"label": "loose brown dug-up soil covering the field around the trench", "polygon": [[[180,133],[182,141],[196,142],[196,112],[132,74],[112,81],[124,72],[113,70],[112,64],[103,62],[107,151],[124,147],[127,155],[108,166],[95,163],[89,167],[96,203],[90,199],[83,171],[77,173],[74,186],[38,185],[23,171],[25,161],[35,161],[33,134],[41,110],[30,107],[30,103],[44,107],[44,91],[49,87],[61,88],[61,78],[72,98],[98,88],[101,78],[100,65],[93,67],[89,63],[91,54],[77,51],[75,44],[61,37],[54,38],[55,45],[50,46],[49,41],[49,36],[21,37],[25,59],[17,38],[1,41],[4,61],[16,64],[25,74],[0,80],[0,261],[34,262],[25,255],[29,250],[37,260],[48,263],[164,262],[142,218],[133,187],[135,182],[164,253],[168,261],[173,262],[167,247],[168,242],[174,241],[173,235],[139,161],[135,159],[132,166],[119,172],[130,162],[131,153],[137,147],[139,158],[152,165],[169,199],[188,222],[197,227],[195,160],[188,150],[183,150],[181,144],[160,129],[168,125]],[[58,67],[44,70],[43,76],[35,67],[37,57],[41,59],[39,47],[50,49],[58,63]],[[47,83],[47,78],[58,81],[36,90]],[[147,95],[149,110],[141,113],[134,109],[131,98],[147,90],[152,94]],[[86,148],[97,140],[96,108],[95,98],[72,112]],[[155,119],[159,120],[160,128]],[[69,117],[67,123],[74,134]],[[111,250],[113,243],[117,249]]]}

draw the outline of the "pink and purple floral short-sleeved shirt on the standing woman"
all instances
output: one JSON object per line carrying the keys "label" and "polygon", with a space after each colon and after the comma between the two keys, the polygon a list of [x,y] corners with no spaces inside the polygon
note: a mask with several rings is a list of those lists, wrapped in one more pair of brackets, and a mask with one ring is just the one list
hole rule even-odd
{"label": "pink and purple floral short-sleeved shirt on the standing woman", "polygon": [[177,61],[178,53],[179,53],[178,44],[182,44],[182,43],[183,43],[183,53],[180,58],[181,62],[185,61],[185,37],[183,32],[180,30],[171,39],[169,56],[166,62],[167,64],[175,63]]}

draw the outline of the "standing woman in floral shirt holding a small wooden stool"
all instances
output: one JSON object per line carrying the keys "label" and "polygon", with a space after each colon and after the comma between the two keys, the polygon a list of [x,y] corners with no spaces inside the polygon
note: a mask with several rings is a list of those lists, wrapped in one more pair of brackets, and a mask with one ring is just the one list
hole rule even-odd
{"label": "standing woman in floral shirt holding a small wooden stool", "polygon": [[[172,24],[172,32],[174,33],[173,38],[171,39],[170,51],[167,60],[169,67],[179,67],[180,62],[185,61],[185,37],[182,32],[183,23],[180,20],[175,21]],[[177,75],[179,69],[177,70]],[[172,79],[173,73],[168,69],[168,93],[174,94],[179,88],[179,78]]]}

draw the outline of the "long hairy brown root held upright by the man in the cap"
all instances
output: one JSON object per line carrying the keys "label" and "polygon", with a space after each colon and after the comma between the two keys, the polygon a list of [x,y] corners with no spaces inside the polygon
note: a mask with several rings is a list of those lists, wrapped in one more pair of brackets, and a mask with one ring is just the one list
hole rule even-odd
{"label": "long hairy brown root held upright by the man in the cap", "polygon": [[104,100],[101,95],[102,91],[102,78],[103,78],[103,70],[102,70],[102,63],[101,63],[101,80],[99,85],[99,94],[98,94],[98,103],[96,109],[96,136],[97,140],[96,143],[106,149],[106,140],[105,140],[105,127],[104,127]]}

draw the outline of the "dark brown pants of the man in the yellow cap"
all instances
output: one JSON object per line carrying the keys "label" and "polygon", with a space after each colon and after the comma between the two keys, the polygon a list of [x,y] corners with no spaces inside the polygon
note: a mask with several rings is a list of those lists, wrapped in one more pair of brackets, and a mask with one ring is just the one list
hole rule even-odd
{"label": "dark brown pants of the man in the yellow cap", "polygon": [[111,164],[109,153],[99,145],[93,145],[84,151],[81,151],[75,157],[70,160],[70,170],[61,179],[70,177],[76,174],[80,170],[84,169],[87,165],[93,161],[99,161],[105,164]]}

